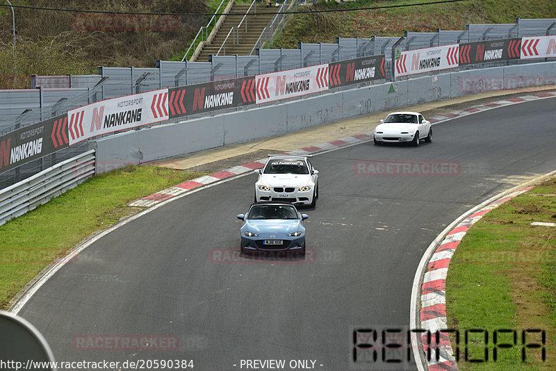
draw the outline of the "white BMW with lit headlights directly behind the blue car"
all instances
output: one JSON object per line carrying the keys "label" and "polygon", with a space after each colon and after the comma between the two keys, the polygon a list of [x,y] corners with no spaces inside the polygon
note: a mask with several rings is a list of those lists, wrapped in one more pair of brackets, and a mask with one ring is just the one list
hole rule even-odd
{"label": "white BMW with lit headlights directly behind the blue car", "polygon": [[316,206],[318,170],[310,156],[268,156],[268,161],[255,183],[255,202],[288,201],[295,205]]}

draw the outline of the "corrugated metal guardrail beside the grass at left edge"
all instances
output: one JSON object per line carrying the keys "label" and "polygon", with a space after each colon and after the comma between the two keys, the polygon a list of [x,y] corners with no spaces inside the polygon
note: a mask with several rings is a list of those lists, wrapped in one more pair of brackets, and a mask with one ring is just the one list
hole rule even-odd
{"label": "corrugated metal guardrail beside the grass at left edge", "polygon": [[95,149],[92,149],[0,190],[0,225],[95,175],[95,161]]}

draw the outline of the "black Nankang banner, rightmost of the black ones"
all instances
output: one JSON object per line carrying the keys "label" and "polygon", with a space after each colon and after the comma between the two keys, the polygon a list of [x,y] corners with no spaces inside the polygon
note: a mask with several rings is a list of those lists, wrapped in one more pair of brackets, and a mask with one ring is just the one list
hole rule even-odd
{"label": "black Nankang banner, rightmost of the black ones", "polygon": [[521,38],[485,40],[459,44],[459,65],[519,59]]}

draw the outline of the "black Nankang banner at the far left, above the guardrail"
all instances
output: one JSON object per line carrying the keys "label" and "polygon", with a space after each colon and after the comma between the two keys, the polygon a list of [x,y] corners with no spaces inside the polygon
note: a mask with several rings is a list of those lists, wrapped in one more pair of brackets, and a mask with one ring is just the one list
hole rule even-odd
{"label": "black Nankang banner at the far left, above the guardrail", "polygon": [[68,145],[65,114],[2,135],[0,136],[0,173],[53,154]]}

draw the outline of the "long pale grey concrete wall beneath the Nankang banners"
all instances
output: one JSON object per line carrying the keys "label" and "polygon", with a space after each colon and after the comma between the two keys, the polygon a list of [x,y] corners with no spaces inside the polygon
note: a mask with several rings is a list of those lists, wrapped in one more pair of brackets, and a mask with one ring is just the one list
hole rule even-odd
{"label": "long pale grey concrete wall beneath the Nankang banners", "polygon": [[464,94],[555,83],[556,62],[470,69],[306,96],[284,104],[129,131],[102,138],[91,145],[97,148],[97,172],[104,172],[129,163],[145,163],[268,138],[380,110]]}

